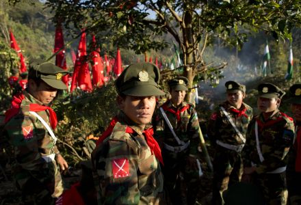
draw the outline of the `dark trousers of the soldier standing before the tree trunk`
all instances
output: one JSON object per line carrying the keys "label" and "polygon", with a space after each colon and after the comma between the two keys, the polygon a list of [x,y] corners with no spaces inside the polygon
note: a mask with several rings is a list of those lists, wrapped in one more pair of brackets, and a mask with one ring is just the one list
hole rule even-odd
{"label": "dark trousers of the soldier standing before the tree trunk", "polygon": [[164,189],[168,197],[168,204],[195,204],[200,187],[198,170],[187,166],[187,153],[171,153],[162,151],[164,166]]}

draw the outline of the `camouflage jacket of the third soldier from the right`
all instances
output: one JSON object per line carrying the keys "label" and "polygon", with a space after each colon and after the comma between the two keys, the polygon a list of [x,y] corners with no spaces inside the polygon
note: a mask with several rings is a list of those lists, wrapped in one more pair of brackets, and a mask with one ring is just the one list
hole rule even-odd
{"label": "camouflage jacket of the third soldier from the right", "polygon": [[246,137],[248,124],[253,118],[252,108],[246,105],[246,103],[244,102],[242,103],[240,109],[244,113],[241,113],[241,115],[237,114],[235,112],[237,111],[237,109],[235,109],[235,107],[230,105],[227,101],[222,103],[222,105],[219,105],[211,114],[207,126],[207,135],[211,143],[215,144],[216,140],[220,140],[224,143],[232,144],[235,146],[242,144],[243,141],[237,135],[228,118],[226,118],[226,115],[224,115],[223,111],[220,109],[221,106],[224,107],[226,112],[229,113],[235,126],[237,126],[238,131],[241,133],[241,135],[243,135],[243,137]]}

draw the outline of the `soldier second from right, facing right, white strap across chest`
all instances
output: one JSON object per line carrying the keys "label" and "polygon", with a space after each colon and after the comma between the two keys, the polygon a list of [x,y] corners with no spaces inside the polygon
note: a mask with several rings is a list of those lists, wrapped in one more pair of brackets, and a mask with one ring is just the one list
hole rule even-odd
{"label": "soldier second from right, facing right, white strap across chest", "polygon": [[[258,86],[261,113],[248,126],[244,174],[252,174],[267,204],[287,204],[285,169],[293,144],[293,119],[278,110],[283,90],[271,83]],[[252,166],[252,167],[251,167]]]}

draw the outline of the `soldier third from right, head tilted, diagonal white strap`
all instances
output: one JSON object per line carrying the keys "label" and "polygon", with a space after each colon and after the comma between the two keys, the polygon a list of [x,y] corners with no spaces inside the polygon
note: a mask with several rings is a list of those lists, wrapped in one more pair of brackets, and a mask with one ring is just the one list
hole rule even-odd
{"label": "soldier third from right, head tilted, diagonal white strap", "polygon": [[224,204],[222,193],[241,180],[241,150],[253,117],[252,108],[243,102],[246,86],[235,81],[227,81],[225,86],[226,101],[213,111],[207,126],[207,135],[215,146],[212,204]]}

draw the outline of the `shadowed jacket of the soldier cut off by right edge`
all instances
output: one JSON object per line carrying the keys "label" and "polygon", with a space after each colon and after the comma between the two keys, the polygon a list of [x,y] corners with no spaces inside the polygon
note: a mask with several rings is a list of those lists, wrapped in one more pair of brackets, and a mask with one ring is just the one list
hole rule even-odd
{"label": "shadowed jacket of the soldier cut off by right edge", "polygon": [[[289,162],[287,165],[287,188],[289,190],[289,195],[300,195],[301,196],[301,172],[296,172],[296,158],[297,154],[300,153],[301,146],[298,144],[297,138],[301,139],[301,122],[296,122],[296,137],[293,147],[289,151]],[[298,136],[297,136],[298,133]],[[299,149],[299,150],[298,150]]]}

